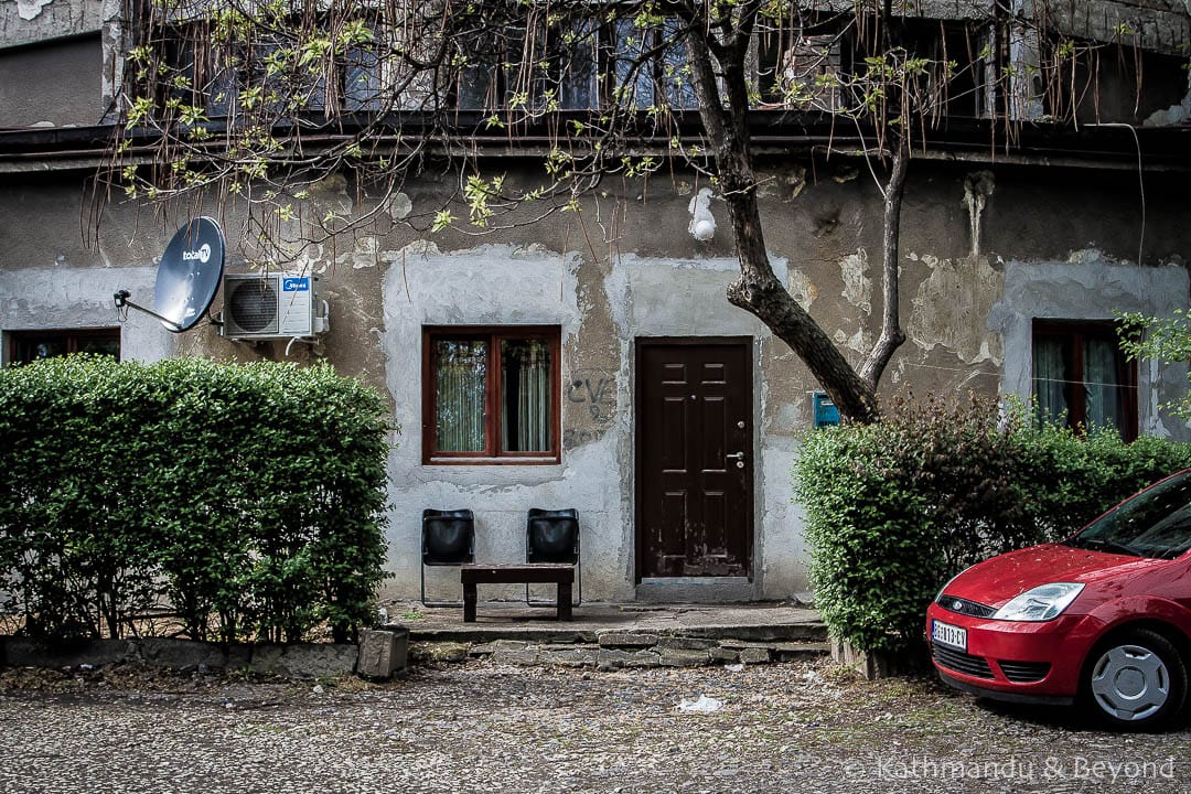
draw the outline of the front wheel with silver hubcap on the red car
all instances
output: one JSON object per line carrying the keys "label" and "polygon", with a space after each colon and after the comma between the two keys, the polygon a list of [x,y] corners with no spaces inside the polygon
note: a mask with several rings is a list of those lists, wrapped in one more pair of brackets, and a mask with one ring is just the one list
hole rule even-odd
{"label": "front wheel with silver hubcap on the red car", "polygon": [[1130,629],[1092,652],[1084,699],[1108,725],[1133,731],[1165,727],[1186,699],[1187,673],[1178,650],[1156,631]]}

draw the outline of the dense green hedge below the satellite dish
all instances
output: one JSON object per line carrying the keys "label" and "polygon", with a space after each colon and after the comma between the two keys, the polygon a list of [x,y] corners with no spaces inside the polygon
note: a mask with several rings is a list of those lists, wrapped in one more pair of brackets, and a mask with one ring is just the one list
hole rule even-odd
{"label": "dense green hedge below the satellite dish", "polygon": [[0,606],[45,638],[176,614],[337,642],[384,576],[385,401],[330,367],[71,356],[0,371]]}

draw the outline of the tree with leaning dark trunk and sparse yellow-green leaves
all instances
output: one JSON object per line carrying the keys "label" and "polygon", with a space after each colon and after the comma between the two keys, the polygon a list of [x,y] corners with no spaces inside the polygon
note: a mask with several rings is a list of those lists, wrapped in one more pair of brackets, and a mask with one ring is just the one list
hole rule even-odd
{"label": "tree with leaning dark trunk and sparse yellow-green leaves", "polygon": [[[1040,14],[1005,0],[972,0],[946,25],[891,0],[127,2],[101,180],[114,195],[236,202],[250,257],[267,265],[367,230],[428,169],[457,174],[459,189],[405,223],[472,231],[581,211],[609,176],[693,169],[728,206],[741,270],[728,299],[856,421],[879,418],[877,386],[905,339],[902,196],[928,131],[960,102],[1002,121],[990,129],[1003,142],[1005,123],[1035,106],[1071,118],[1073,106],[1046,94],[1068,96],[1098,50],[1043,35]],[[773,271],[752,145],[759,114],[828,119],[838,145],[824,150],[859,151],[883,194],[881,331],[859,367]],[[486,176],[493,140],[538,152],[547,179]],[[332,174],[354,175],[376,198],[369,210],[317,208],[311,187]]]}

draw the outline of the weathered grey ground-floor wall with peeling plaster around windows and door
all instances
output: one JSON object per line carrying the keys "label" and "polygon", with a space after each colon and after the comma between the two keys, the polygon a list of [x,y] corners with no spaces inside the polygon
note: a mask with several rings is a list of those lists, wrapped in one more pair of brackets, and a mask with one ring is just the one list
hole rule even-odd
{"label": "weathered grey ground-floor wall with peeling plaster around windows and door", "polygon": [[[511,167],[510,167],[511,168]],[[516,175],[511,175],[513,179]],[[767,245],[791,292],[846,355],[859,361],[879,330],[880,199],[862,163],[785,162],[761,188]],[[575,507],[584,518],[584,594],[630,600],[635,587],[635,339],[648,336],[748,336],[754,355],[753,598],[806,588],[802,518],[791,504],[798,436],[811,421],[809,371],[752,315],[731,307],[735,276],[722,201],[716,235],[687,232],[699,185],[678,175],[609,183],[582,215],[562,213],[512,231],[426,238],[403,223],[439,207],[453,179],[406,186],[400,212],[375,233],[344,236],[307,250],[288,267],[323,280],[331,332],[289,360],[331,361],[391,399],[401,425],[392,477],[389,596],[416,596],[419,517],[425,507],[475,511],[479,556],[520,559],[529,507]],[[1028,389],[1034,317],[1096,319],[1115,308],[1165,313],[1191,302],[1185,262],[1191,229],[1177,176],[1147,175],[1142,240],[1136,174],[973,168],[916,161],[902,246],[902,312],[909,340],[883,381],[883,399],[905,387],[923,394]],[[152,267],[182,218],[107,208],[93,244],[80,227],[77,181],[25,175],[0,193],[0,329],[114,325],[111,293],[148,299]],[[345,180],[314,190],[311,210],[360,212]],[[80,219],[83,223],[80,224]],[[230,258],[245,256],[241,215],[224,217]],[[1141,251],[1145,267],[1135,264]],[[1072,255],[1075,255],[1074,258]],[[219,308],[217,299],[216,308]],[[562,462],[551,465],[422,464],[422,326],[550,324],[562,329]],[[172,336],[133,314],[124,329],[130,356],[204,355],[286,360],[286,344],[247,345],[208,326]],[[1143,376],[1146,373],[1143,373]],[[1179,437],[1185,429],[1154,408],[1178,386],[1154,373],[1142,427]],[[1185,382],[1185,381],[1184,381]],[[431,593],[457,598],[457,575],[429,573]],[[503,593],[509,598],[517,588]]]}

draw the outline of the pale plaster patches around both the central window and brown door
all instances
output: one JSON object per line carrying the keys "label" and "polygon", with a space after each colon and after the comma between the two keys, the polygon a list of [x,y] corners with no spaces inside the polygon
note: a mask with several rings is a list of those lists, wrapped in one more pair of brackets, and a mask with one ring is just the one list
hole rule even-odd
{"label": "pale plaster patches around both the central window and brown door", "polygon": [[[675,336],[749,336],[754,387],[763,413],[769,399],[762,349],[768,331],[723,299],[736,273],[732,260],[659,260],[625,255],[605,265],[541,248],[481,246],[442,252],[419,245],[384,281],[388,385],[403,426],[391,459],[393,480],[389,565],[416,581],[418,517],[423,508],[472,508],[481,559],[516,562],[524,555],[529,507],[575,507],[584,526],[585,598],[634,598],[634,339]],[[782,263],[784,264],[784,263]],[[584,274],[584,277],[580,276]],[[604,274],[600,282],[587,274]],[[616,307],[616,308],[612,308]],[[693,311],[698,307],[698,311]],[[611,310],[604,313],[599,310]],[[562,327],[565,438],[561,465],[422,465],[420,342],[423,325],[557,324]],[[581,338],[580,338],[581,337]],[[592,365],[599,362],[599,365]],[[754,509],[757,518],[757,598],[805,589],[798,523],[788,489],[794,449],[780,434],[756,433]],[[771,484],[772,483],[772,484]],[[765,549],[773,549],[768,555]],[[403,594],[409,595],[407,584]],[[457,598],[453,570],[428,570],[435,598]],[[493,590],[500,593],[500,590]],[[516,598],[512,588],[503,592]]]}

